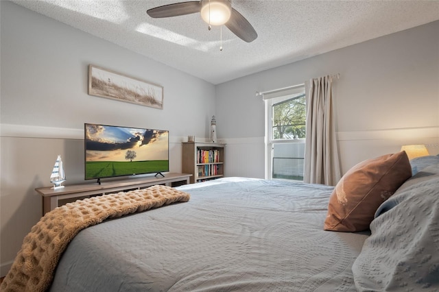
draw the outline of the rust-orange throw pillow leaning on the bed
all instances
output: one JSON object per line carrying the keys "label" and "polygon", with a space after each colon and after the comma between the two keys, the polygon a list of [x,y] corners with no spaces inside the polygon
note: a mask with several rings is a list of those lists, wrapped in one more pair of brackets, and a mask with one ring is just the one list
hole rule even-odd
{"label": "rust-orange throw pillow leaning on the bed", "polygon": [[365,160],[343,175],[329,198],[324,230],[369,229],[375,211],[412,176],[405,151]]}

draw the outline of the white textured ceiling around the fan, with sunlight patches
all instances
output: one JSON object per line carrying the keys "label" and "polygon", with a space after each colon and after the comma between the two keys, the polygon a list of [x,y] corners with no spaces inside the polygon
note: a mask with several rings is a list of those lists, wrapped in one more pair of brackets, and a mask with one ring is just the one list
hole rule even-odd
{"label": "white textured ceiling around the fan, with sunlight patches", "polygon": [[209,32],[200,14],[152,19],[146,10],[182,1],[13,1],[212,84],[439,20],[439,0],[233,0],[258,38]]}

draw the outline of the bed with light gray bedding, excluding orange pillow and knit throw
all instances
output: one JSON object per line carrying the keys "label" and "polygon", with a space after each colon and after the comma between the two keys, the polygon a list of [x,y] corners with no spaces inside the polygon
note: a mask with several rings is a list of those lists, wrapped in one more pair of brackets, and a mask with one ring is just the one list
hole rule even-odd
{"label": "bed with light gray bedding, excluding orange pillow and knit throw", "polygon": [[[333,186],[252,178],[180,186],[189,201],[83,228],[43,290],[438,291],[439,157],[429,158],[412,162],[414,176],[361,232],[323,229]],[[2,291],[14,291],[10,274]]]}

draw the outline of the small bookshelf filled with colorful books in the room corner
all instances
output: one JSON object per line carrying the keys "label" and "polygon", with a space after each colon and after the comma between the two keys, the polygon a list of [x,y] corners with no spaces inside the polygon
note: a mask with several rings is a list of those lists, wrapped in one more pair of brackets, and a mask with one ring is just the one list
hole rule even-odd
{"label": "small bookshelf filled with colorful books in the room corner", "polygon": [[191,184],[224,176],[224,148],[221,143],[183,142],[182,171],[191,173]]}

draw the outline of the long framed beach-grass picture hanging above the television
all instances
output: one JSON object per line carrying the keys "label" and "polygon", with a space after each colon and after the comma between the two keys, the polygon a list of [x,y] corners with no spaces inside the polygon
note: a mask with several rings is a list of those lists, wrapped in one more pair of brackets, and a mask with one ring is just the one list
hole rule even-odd
{"label": "long framed beach-grass picture hanging above the television", "polygon": [[163,89],[152,82],[88,65],[88,95],[163,110]]}

